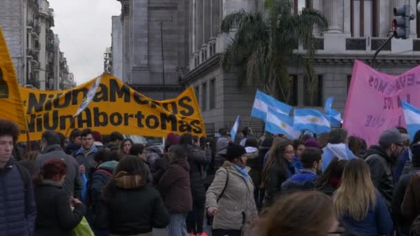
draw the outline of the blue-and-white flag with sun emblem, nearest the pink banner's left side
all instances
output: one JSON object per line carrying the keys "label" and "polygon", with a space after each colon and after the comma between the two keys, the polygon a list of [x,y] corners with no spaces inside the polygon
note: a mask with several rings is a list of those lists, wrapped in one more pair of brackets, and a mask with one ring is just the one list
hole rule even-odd
{"label": "blue-and-white flag with sun emblem, nearest the pink banner's left side", "polygon": [[330,132],[330,121],[319,110],[295,109],[293,128],[295,130],[308,130],[316,134]]}

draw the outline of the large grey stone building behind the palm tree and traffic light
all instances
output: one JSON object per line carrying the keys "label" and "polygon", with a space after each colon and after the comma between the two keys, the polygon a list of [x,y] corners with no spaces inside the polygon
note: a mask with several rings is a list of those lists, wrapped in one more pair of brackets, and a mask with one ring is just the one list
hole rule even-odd
{"label": "large grey stone building behind the palm tree and traffic light", "polygon": [[[175,97],[180,89],[193,86],[209,134],[230,128],[237,115],[242,126],[262,132],[262,123],[249,119],[256,86],[237,86],[234,70],[225,72],[220,57],[231,35],[220,34],[220,23],[236,10],[261,11],[263,0],[120,0],[123,26],[123,79],[131,84],[158,87],[149,95],[158,99],[162,87],[160,22],[163,26],[166,91]],[[291,105],[322,109],[325,99],[334,96],[334,108],[343,112],[354,59],[370,63],[377,48],[390,34],[392,9],[418,0],[291,0],[294,10],[314,8],[327,18],[325,32],[317,38],[314,70],[318,95],[308,97],[303,66],[289,64]],[[410,39],[392,39],[376,61],[376,69],[398,75],[420,62],[420,15],[410,23]],[[169,48],[166,51],[166,48]],[[304,53],[299,45],[296,53]],[[166,66],[167,65],[167,66]],[[177,73],[178,72],[178,75]],[[168,87],[168,85],[171,87]],[[171,90],[178,88],[178,90]],[[141,90],[144,92],[144,90]],[[173,92],[172,92],[173,91]]]}

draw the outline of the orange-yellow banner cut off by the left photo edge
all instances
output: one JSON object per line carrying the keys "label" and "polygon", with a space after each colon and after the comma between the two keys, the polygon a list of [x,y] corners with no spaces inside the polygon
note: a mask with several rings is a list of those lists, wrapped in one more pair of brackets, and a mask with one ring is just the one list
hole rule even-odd
{"label": "orange-yellow banner cut off by the left photo edge", "polygon": [[0,27],[0,118],[17,122],[20,130],[24,132],[28,128],[19,91],[15,66]]}

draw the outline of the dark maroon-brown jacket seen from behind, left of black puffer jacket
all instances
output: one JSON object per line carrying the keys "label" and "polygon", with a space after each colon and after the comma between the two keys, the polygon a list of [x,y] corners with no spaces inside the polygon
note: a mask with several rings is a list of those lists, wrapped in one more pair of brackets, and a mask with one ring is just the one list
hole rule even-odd
{"label": "dark maroon-brown jacket seen from behind, left of black puffer jacket", "polygon": [[171,214],[189,213],[193,209],[189,170],[187,160],[177,159],[169,164],[160,179],[158,189]]}

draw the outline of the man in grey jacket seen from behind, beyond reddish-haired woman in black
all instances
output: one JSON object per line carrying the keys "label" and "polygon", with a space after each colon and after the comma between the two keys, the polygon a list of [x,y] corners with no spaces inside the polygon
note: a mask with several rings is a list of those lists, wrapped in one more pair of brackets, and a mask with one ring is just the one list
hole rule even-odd
{"label": "man in grey jacket seen from behind, beyond reddish-haired woman in black", "polygon": [[83,186],[77,161],[74,157],[64,153],[63,148],[60,146],[59,136],[56,132],[48,130],[42,134],[41,150],[42,154],[37,157],[37,166],[41,168],[41,166],[50,159],[58,158],[63,160],[67,166],[63,188],[69,196],[80,199]]}

